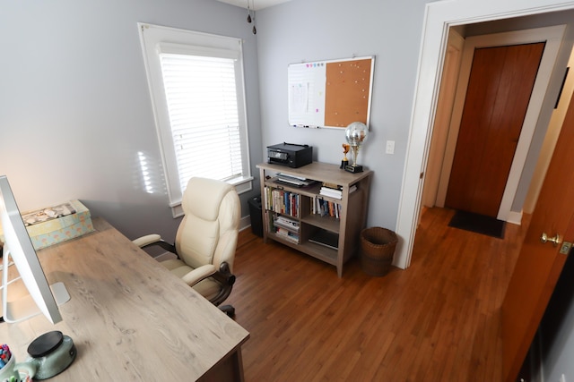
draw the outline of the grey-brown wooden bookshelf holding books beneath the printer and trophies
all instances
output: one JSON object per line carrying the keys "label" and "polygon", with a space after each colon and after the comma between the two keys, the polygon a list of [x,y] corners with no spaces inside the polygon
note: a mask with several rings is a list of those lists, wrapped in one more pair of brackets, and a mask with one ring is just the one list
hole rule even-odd
{"label": "grey-brown wooden bookshelf holding books beneath the printer and trophies", "polygon": [[[261,179],[264,242],[274,240],[300,250],[334,265],[337,275],[343,276],[344,263],[359,249],[359,235],[367,223],[372,171],[365,170],[362,173],[352,174],[340,169],[339,166],[320,162],[299,168],[264,163],[257,165],[257,168]],[[298,187],[278,182],[277,174],[304,178],[316,183]],[[320,195],[323,183],[339,185],[342,191],[341,199]],[[356,186],[357,189],[350,193],[352,186]],[[338,204],[337,212],[321,215],[317,211],[317,199],[333,207],[329,208],[329,211],[334,211],[335,204]],[[285,237],[284,229],[279,230],[274,225],[274,220],[281,216],[297,224],[297,228],[293,228],[289,237]],[[337,235],[337,248],[310,242],[309,239],[314,237],[317,230]]]}

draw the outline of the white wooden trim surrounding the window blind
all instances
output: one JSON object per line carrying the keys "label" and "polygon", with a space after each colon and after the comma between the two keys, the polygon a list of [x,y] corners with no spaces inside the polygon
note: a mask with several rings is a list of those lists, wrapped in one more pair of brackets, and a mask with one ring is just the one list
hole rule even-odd
{"label": "white wooden trim surrounding the window blind", "polygon": [[[248,121],[245,98],[245,79],[242,60],[242,40],[191,30],[179,30],[170,27],[138,22],[142,44],[143,62],[147,73],[156,132],[160,142],[161,161],[165,174],[166,189],[170,199],[173,217],[183,215],[181,209],[182,192],[179,186],[179,174],[175,149],[171,137],[170,115],[164,96],[161,76],[160,53],[193,54],[222,56],[238,60],[236,78],[239,81],[239,132],[241,135],[243,176],[227,181],[233,184],[238,193],[253,189],[253,177],[249,165]],[[208,166],[208,164],[207,164]]]}

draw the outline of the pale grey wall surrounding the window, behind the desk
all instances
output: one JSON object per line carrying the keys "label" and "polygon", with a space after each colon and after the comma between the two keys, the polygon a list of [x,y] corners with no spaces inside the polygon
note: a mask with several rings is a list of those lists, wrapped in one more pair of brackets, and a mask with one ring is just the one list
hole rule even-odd
{"label": "pale grey wall surrounding the window, behind the desk", "polygon": [[[245,10],[214,0],[0,0],[0,8],[0,174],[22,210],[81,199],[130,238],[174,237],[138,21],[244,38],[253,167],[261,161],[257,45]],[[139,152],[155,175],[152,194]]]}

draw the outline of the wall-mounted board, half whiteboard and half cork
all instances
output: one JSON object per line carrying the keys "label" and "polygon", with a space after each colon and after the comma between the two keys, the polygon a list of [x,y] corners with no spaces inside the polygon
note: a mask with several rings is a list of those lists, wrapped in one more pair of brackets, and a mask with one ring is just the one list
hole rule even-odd
{"label": "wall-mounted board, half whiteboard and half cork", "polygon": [[289,124],[295,127],[369,126],[375,57],[357,57],[288,67]]}

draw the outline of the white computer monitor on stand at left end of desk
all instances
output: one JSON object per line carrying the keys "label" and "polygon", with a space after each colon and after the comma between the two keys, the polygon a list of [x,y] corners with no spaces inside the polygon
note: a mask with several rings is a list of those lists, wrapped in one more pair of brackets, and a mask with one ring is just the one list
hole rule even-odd
{"label": "white computer monitor on stand at left end of desk", "polygon": [[[70,300],[63,283],[48,284],[30,235],[22,220],[20,209],[14,199],[10,183],[0,175],[0,216],[4,233],[4,254],[2,272],[2,307],[6,322],[18,322],[43,313],[53,324],[62,320],[58,305]],[[20,276],[8,279],[8,267],[13,264]],[[8,293],[9,285],[22,279],[29,294],[20,294],[13,299]]]}

